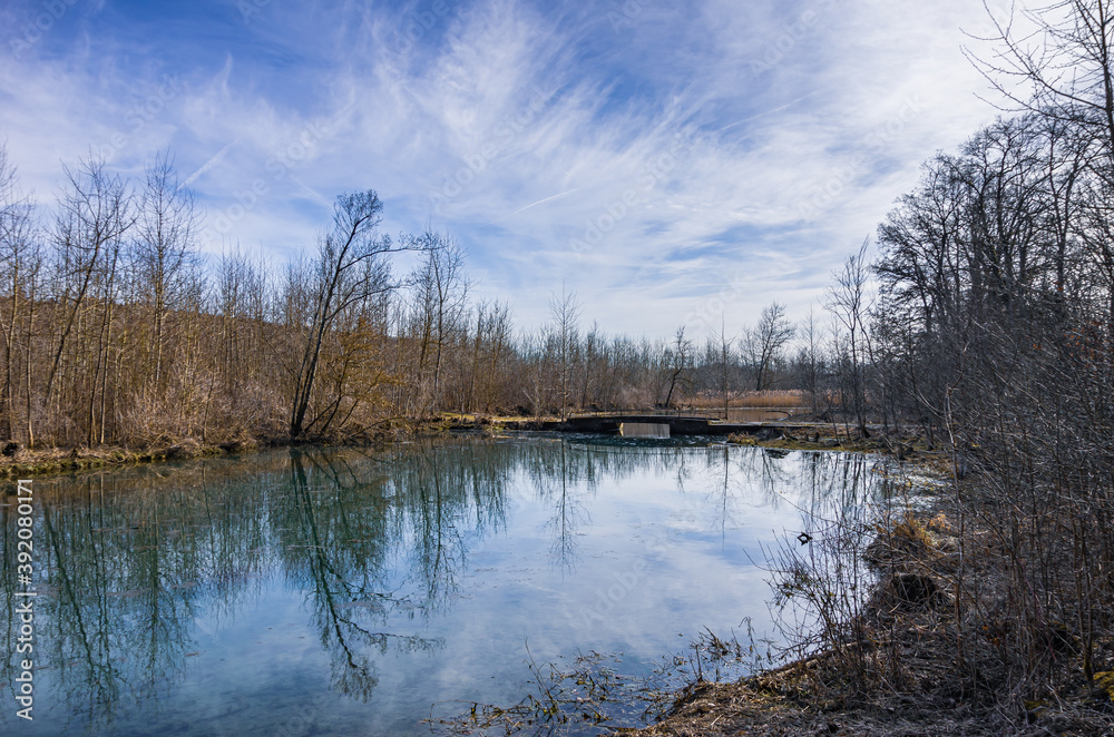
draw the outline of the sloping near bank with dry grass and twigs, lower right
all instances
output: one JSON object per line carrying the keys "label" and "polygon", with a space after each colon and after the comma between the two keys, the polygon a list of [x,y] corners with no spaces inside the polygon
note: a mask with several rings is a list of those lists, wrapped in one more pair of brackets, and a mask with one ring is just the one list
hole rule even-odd
{"label": "sloping near bank with dry grass and twigs, lower right", "polygon": [[[939,476],[937,463],[920,471]],[[1027,694],[1010,692],[1006,648],[1019,628],[993,610],[970,611],[1005,590],[1010,568],[993,535],[960,524],[955,511],[951,487],[941,485],[927,504],[878,525],[861,551],[877,580],[861,608],[836,628],[842,641],[736,682],[691,684],[673,695],[657,724],[615,734],[1114,735],[1114,629],[1100,638],[1088,679],[1075,628],[1051,621],[1040,647],[1054,651],[1055,672]],[[993,625],[957,641],[964,629],[957,622],[973,616]]]}

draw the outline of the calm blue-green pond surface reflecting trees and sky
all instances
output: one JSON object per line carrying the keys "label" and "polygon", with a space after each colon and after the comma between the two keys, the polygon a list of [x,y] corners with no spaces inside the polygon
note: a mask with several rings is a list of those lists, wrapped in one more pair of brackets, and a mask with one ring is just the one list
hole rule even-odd
{"label": "calm blue-green pond surface reflecting trees and sky", "polygon": [[[770,629],[779,538],[872,460],[590,438],[275,451],[58,476],[36,494],[36,700],[4,735],[418,735],[538,662],[644,675],[703,629]],[[14,492],[14,484],[7,491]],[[433,707],[434,702],[438,704]]]}

